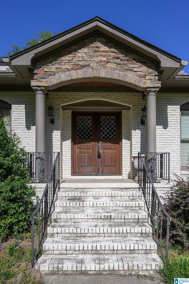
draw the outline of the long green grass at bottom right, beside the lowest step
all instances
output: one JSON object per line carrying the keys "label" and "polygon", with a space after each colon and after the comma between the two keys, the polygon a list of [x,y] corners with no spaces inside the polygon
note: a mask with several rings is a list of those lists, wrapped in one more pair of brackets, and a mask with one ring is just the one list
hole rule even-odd
{"label": "long green grass at bottom right, beside the lowest step", "polygon": [[163,268],[158,272],[166,284],[174,283],[174,278],[189,278],[189,252],[178,245],[170,244],[168,262],[162,257]]}

